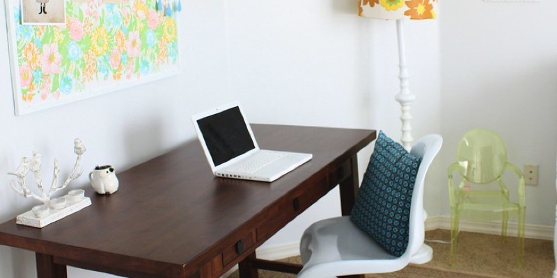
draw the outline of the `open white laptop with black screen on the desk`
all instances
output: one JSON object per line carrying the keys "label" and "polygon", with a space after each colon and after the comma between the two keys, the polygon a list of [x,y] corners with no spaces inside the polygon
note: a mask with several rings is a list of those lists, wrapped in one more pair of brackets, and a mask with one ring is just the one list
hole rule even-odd
{"label": "open white laptop with black screen on the desk", "polygon": [[239,102],[191,116],[213,174],[274,181],[310,161],[311,154],[259,149]]}

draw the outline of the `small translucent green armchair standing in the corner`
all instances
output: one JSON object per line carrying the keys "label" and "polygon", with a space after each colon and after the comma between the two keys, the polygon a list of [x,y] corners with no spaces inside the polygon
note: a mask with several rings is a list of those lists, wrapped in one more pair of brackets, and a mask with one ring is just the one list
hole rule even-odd
{"label": "small translucent green armchair standing in the corner", "polygon": [[[511,202],[509,190],[503,183],[503,173],[511,170],[518,178],[517,202]],[[453,174],[460,177],[458,186]],[[492,186],[492,188],[489,188]],[[493,188],[494,187],[494,188]],[[524,176],[519,168],[507,161],[503,140],[489,129],[466,131],[457,146],[457,161],[448,167],[450,199],[450,263],[456,263],[459,221],[462,216],[491,220],[501,218],[501,236],[507,235],[509,213],[518,218],[518,256],[524,256],[524,218],[526,194]]]}

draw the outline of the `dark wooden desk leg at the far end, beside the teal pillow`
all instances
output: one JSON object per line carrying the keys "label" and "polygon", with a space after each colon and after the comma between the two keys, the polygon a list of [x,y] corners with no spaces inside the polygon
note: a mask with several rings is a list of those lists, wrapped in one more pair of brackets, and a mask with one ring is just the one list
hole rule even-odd
{"label": "dark wooden desk leg at the far end, beside the teal pillow", "polygon": [[[340,183],[340,209],[343,215],[350,215],[360,189],[358,176],[358,156],[350,158],[352,174]],[[350,275],[343,278],[364,278],[365,275]]]}

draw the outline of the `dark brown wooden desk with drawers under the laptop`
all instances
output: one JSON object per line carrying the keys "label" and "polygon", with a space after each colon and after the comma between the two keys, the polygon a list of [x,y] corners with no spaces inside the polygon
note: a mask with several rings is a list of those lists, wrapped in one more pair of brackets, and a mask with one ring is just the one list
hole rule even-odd
{"label": "dark brown wooden desk with drawers under the laptop", "polygon": [[256,268],[276,265],[256,260],[256,247],[338,183],[342,213],[350,213],[356,153],[376,133],[264,124],[253,131],[262,149],[313,159],[273,183],[222,179],[199,143],[187,142],[118,173],[116,194],[86,190],[92,206],[45,228],[0,224],[0,244],[36,252],[38,278],[65,278],[66,265],[125,277],[219,277],[239,262],[242,277],[257,277]]}

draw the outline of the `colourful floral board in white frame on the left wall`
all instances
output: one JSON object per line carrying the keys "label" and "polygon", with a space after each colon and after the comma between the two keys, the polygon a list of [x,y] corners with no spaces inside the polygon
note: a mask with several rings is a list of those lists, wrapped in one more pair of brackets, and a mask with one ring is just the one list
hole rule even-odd
{"label": "colourful floral board in white frame on the left wall", "polygon": [[5,1],[16,115],[180,72],[175,0],[68,0],[65,25],[23,24],[29,7]]}

